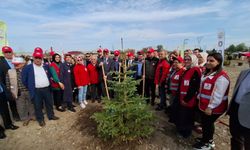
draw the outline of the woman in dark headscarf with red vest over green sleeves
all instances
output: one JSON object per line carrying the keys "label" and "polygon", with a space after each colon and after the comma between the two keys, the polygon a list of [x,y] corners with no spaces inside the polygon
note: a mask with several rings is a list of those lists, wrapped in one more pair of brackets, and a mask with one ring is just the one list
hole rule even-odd
{"label": "woman in dark headscarf with red vest over green sleeves", "polygon": [[60,65],[61,65],[61,56],[57,53],[55,53],[52,56],[52,62],[50,64],[50,71],[52,74],[52,78],[50,79],[51,87],[53,91],[53,99],[54,99],[54,105],[56,106],[56,109],[58,111],[65,111],[65,109],[62,107],[62,100],[63,100],[63,91],[60,87]]}

